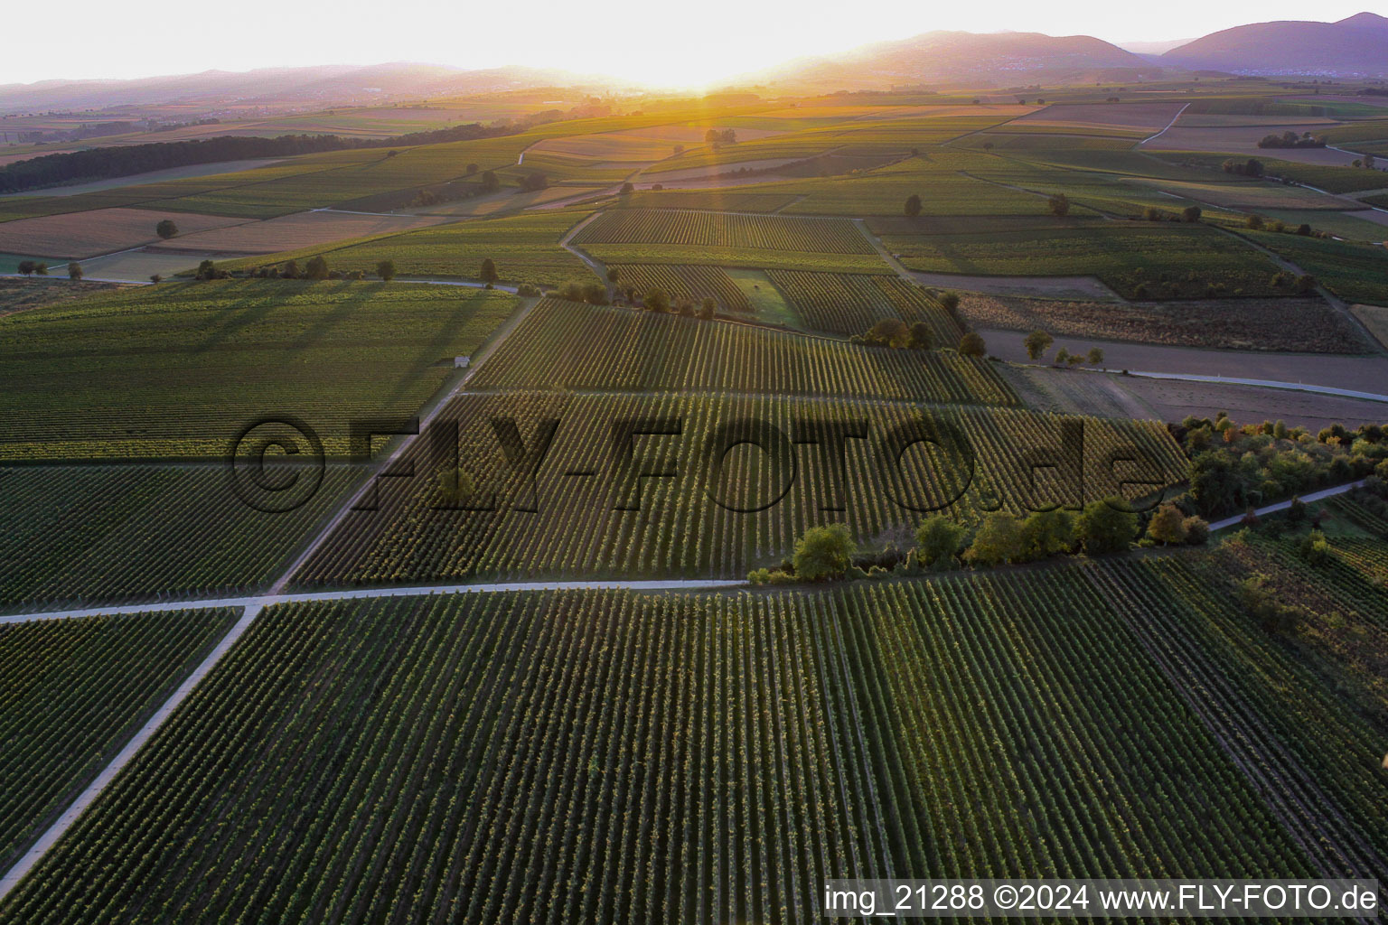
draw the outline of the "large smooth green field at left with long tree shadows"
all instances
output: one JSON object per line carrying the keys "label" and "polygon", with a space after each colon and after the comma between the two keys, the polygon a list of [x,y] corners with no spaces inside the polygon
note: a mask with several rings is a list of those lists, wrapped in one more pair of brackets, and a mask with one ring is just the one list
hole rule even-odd
{"label": "large smooth green field at left with long tree shadows", "polygon": [[350,420],[416,413],[515,306],[436,286],[248,280],[10,315],[0,458],[222,458],[243,426],[283,415],[340,455]]}

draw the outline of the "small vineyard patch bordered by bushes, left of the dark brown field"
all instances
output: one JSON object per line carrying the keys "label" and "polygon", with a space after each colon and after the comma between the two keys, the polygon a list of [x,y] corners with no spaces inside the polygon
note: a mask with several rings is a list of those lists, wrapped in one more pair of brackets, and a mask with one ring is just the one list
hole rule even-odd
{"label": "small vineyard patch bordered by bushes, left of the dark brown field", "polygon": [[963,336],[959,323],[926,290],[897,276],[798,270],[768,270],[766,275],[815,330],[865,334],[884,318],[899,318],[908,325],[929,325],[938,347],[954,347]]}

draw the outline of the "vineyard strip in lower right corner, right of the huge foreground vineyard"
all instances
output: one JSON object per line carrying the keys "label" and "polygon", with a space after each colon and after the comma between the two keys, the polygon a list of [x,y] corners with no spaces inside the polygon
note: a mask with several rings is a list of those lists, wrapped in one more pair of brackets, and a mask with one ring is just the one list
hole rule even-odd
{"label": "vineyard strip in lower right corner, right of the huge foreground vineyard", "polygon": [[1092,574],[1320,875],[1382,878],[1384,729],[1345,702],[1342,685],[1317,678],[1187,562]]}

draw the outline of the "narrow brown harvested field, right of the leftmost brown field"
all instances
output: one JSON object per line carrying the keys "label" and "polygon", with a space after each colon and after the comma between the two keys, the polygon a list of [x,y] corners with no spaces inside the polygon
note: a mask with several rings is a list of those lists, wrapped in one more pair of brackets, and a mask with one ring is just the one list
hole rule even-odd
{"label": "narrow brown harvested field, right of the leftmost brown field", "polygon": [[207,251],[221,254],[278,254],[354,237],[411,232],[441,225],[447,219],[430,215],[359,215],[355,212],[297,212],[265,222],[180,234],[153,245],[158,251]]}

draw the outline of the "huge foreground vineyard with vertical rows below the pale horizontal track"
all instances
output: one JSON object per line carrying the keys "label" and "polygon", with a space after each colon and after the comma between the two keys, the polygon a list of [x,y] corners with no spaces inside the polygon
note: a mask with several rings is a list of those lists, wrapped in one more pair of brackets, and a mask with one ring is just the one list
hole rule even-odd
{"label": "huge foreground vineyard with vertical rows below the pale horizontal track", "polygon": [[831,876],[1177,875],[1313,868],[1065,570],[275,607],[0,915],[788,924]]}

